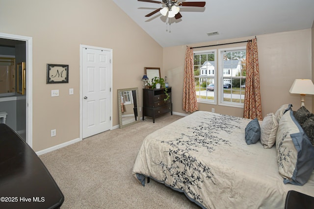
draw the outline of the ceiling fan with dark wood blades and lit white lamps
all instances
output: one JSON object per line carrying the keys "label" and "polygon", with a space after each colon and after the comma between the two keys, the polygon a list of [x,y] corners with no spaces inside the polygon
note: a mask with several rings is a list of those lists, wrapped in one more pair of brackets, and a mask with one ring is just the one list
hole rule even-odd
{"label": "ceiling fan with dark wood blades and lit white lamps", "polygon": [[205,1],[178,2],[178,3],[177,3],[178,0],[162,0],[162,2],[156,0],[138,0],[138,1],[164,4],[161,8],[158,8],[155,11],[145,15],[145,17],[150,17],[160,11],[160,13],[163,16],[166,16],[168,13],[168,18],[174,17],[175,19],[182,18],[182,15],[179,12],[180,6],[204,7],[206,4]]}

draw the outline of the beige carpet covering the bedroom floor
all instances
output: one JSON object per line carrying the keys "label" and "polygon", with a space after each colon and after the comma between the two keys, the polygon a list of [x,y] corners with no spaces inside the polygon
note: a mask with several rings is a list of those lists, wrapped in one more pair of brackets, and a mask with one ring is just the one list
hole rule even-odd
{"label": "beige carpet covering the bedroom floor", "polygon": [[61,209],[199,209],[183,193],[132,176],[145,136],[181,117],[147,118],[39,156],[64,194]]}

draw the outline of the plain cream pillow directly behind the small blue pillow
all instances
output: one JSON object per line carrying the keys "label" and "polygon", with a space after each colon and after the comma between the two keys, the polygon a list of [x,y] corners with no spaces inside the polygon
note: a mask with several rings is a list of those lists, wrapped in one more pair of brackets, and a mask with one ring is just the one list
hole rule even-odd
{"label": "plain cream pillow directly behind the small blue pillow", "polygon": [[268,113],[261,125],[261,143],[264,148],[271,148],[276,142],[278,120],[273,113]]}

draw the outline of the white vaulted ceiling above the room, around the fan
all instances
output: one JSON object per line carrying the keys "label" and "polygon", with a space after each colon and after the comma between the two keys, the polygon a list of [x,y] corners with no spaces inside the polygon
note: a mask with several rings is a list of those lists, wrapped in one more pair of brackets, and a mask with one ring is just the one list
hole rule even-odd
{"label": "white vaulted ceiling above the room, around the fan", "polygon": [[183,17],[170,25],[159,12],[145,17],[161,4],[113,1],[162,47],[306,29],[314,20],[314,0],[204,0],[205,7],[180,7]]}

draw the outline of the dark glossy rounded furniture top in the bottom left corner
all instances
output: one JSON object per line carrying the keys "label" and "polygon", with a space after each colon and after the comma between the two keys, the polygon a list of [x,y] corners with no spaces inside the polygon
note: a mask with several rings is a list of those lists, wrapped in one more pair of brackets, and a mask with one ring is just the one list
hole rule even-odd
{"label": "dark glossy rounded furniture top in the bottom left corner", "polygon": [[57,209],[64,196],[44,163],[11,128],[0,124],[0,208]]}

